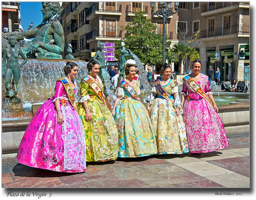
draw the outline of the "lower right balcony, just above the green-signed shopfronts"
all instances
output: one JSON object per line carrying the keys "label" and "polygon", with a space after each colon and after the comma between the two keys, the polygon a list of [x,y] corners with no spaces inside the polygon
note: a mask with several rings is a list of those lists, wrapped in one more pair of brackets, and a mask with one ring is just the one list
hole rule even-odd
{"label": "lower right balcony, just above the green-signed shopfronts", "polygon": [[[250,27],[247,24],[237,24],[233,25],[230,28],[214,28],[213,31],[209,29],[201,30],[199,38],[209,38],[217,36],[227,36],[231,34],[239,34],[239,36],[247,36],[250,33]],[[249,36],[248,36],[249,37]]]}

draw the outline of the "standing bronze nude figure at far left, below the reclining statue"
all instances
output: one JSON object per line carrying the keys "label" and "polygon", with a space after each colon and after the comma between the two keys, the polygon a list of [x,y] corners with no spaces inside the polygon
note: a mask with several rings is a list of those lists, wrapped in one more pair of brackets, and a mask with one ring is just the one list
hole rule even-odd
{"label": "standing bronze nude figure at far left, below the reclining statue", "polygon": [[[2,76],[4,76],[4,84],[6,87],[6,97],[11,98],[12,101],[21,101],[17,97],[18,92],[18,82],[19,77],[21,76],[21,67],[27,62],[26,56],[22,53],[21,49],[16,47],[17,38],[14,36],[10,36],[8,38],[9,48],[6,48],[3,53],[3,61],[2,61]],[[21,64],[19,64],[19,56],[23,58]],[[7,59],[7,64],[6,64]],[[6,69],[4,65],[6,64]],[[13,88],[11,88],[11,77],[13,75]]]}

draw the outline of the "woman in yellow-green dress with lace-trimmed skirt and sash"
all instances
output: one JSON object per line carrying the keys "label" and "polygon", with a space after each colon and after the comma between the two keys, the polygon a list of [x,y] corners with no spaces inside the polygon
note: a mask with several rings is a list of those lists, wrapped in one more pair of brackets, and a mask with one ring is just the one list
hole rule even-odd
{"label": "woman in yellow-green dress with lace-trimmed skirt and sash", "polygon": [[78,115],[85,128],[86,161],[114,160],[118,156],[118,133],[98,76],[100,65],[91,59],[87,69],[89,74],[81,79],[81,99],[77,104]]}

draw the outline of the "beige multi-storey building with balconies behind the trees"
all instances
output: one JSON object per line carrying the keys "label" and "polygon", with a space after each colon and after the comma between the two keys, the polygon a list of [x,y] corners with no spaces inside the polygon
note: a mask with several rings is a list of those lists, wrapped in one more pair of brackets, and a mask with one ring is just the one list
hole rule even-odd
{"label": "beige multi-storey building with balconies behind the trees", "polygon": [[[171,7],[174,11],[174,3]],[[159,3],[155,3],[154,12],[157,9]],[[120,40],[125,34],[121,26],[131,22],[132,12],[140,10],[157,25],[156,33],[163,33],[163,20],[151,14],[150,2],[63,2],[61,22],[73,56],[88,59],[97,51],[97,41]],[[172,45],[179,42],[179,30],[188,36],[200,30],[190,46],[198,49],[203,73],[213,66],[220,68],[221,81],[249,78],[245,77],[249,74],[249,49],[245,46],[249,42],[249,2],[180,2],[178,12],[166,22],[166,39]],[[174,66],[178,71],[178,64]]]}

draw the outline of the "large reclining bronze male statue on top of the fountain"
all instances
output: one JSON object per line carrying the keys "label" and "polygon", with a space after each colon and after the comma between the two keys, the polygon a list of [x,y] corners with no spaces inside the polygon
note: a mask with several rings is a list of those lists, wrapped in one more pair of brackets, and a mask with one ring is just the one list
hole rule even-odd
{"label": "large reclining bronze male statue on top of the fountain", "polygon": [[[18,40],[34,38],[31,42],[21,47],[23,54],[27,58],[62,59],[65,39],[63,28],[57,20],[61,11],[60,3],[42,2],[41,11],[43,13],[43,22],[35,28],[30,28],[23,32],[5,34],[7,37],[12,34]],[[2,45],[4,44],[2,43]]]}

